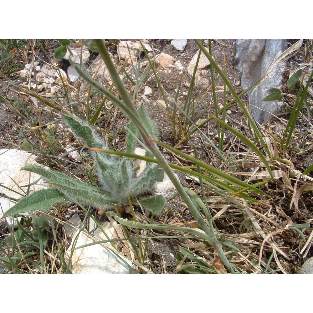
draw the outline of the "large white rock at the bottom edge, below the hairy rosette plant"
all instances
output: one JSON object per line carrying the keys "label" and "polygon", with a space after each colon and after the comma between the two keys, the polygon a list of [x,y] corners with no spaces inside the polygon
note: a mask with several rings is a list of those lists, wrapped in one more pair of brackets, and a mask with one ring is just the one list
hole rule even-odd
{"label": "large white rock at the bottom edge, below the hairy rosette plant", "polygon": [[[107,236],[111,239],[114,234],[114,227],[111,223],[106,222],[102,226]],[[97,240],[107,240],[106,236],[98,228],[94,235]],[[77,237],[77,238],[76,238]],[[77,242],[75,247],[78,248],[85,244],[94,243],[89,236],[83,232],[76,232],[72,242]],[[73,274],[129,274],[129,267],[121,260],[123,259],[129,266],[132,266],[132,262],[120,254],[116,250],[109,249],[105,244],[93,244],[84,248],[76,249],[72,255],[72,273]],[[114,250],[112,252],[111,250]],[[66,255],[69,259],[71,251],[68,250]],[[117,256],[117,254],[119,256]]]}

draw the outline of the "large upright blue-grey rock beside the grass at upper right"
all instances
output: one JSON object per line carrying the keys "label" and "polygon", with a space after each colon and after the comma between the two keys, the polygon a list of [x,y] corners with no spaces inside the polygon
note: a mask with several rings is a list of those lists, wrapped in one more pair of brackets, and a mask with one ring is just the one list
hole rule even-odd
{"label": "large upright blue-grey rock beside the grass at upper right", "polygon": [[[285,39],[238,39],[236,64],[241,75],[242,88],[247,89],[264,76],[270,65],[286,49]],[[273,115],[277,115],[281,110],[282,102],[265,102],[262,99],[268,95],[266,90],[269,88],[281,89],[284,69],[284,62],[278,62],[270,74],[247,93],[250,114],[260,124],[263,124]]]}

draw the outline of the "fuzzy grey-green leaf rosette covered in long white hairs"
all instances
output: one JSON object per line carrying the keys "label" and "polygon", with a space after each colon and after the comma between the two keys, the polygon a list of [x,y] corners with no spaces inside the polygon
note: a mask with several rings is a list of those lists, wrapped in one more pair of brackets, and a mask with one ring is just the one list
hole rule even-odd
{"label": "fuzzy grey-green leaf rosette covered in long white hairs", "polygon": [[[138,114],[141,116],[145,127],[156,138],[156,126],[146,115],[143,105],[139,108]],[[161,195],[142,197],[151,192],[155,182],[162,182],[164,178],[164,171],[158,168],[158,164],[146,162],[145,170],[136,177],[137,168],[132,166],[131,158],[120,158],[117,155],[107,153],[112,151],[109,151],[105,140],[97,134],[93,126],[70,115],[64,115],[64,120],[69,124],[75,136],[84,141],[90,148],[100,187],[85,184],[65,174],[47,170],[40,166],[26,166],[22,170],[46,177],[49,179],[48,183],[54,185],[56,189],[34,192],[10,208],[4,214],[4,217],[38,209],[38,206],[41,209],[48,210],[53,204],[69,199],[79,204],[91,203],[103,211],[109,211],[113,207],[120,208],[129,203],[129,198],[132,203],[140,203],[144,208],[148,208],[155,213],[160,212],[165,207],[166,200]],[[126,154],[134,154],[138,130],[132,122],[129,130]],[[143,158],[147,159],[152,156],[152,153],[146,150],[146,156]]]}

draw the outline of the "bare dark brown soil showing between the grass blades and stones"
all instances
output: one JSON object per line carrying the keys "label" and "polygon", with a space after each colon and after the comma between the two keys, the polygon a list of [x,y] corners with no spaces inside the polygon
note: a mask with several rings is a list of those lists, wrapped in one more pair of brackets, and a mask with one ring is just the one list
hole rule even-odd
{"label": "bare dark brown soil showing between the grass blades and stones", "polygon": [[[132,41],[136,41],[135,39]],[[235,69],[235,44],[234,39],[218,39],[212,41],[212,52],[213,57],[217,64],[220,64],[223,66],[224,60],[225,60],[225,68],[226,68],[226,75],[228,79],[233,82],[233,88],[239,94],[242,90],[240,87],[240,78],[239,74],[237,73]],[[157,52],[163,52],[166,54],[170,54],[175,58],[175,62],[179,62],[182,64],[184,69],[187,69],[188,64],[190,63],[190,60],[194,56],[194,54],[198,51],[198,46],[194,40],[187,40],[187,46],[184,51],[177,51],[175,50],[171,45],[171,40],[166,39],[156,39],[156,40],[149,40],[149,44],[153,45],[154,49],[156,49]],[[35,51],[35,54],[38,56],[37,60],[39,61],[39,65],[42,66],[47,63],[51,63],[55,49],[58,47],[58,42],[56,40],[47,40],[46,41],[46,47],[45,49],[37,48]],[[119,59],[117,57],[116,53],[116,44],[110,44],[108,46],[109,51],[113,54],[115,63],[120,64]],[[299,54],[302,52],[300,51]],[[92,53],[90,56],[91,63],[97,54]],[[145,56],[141,56],[141,60],[145,61]],[[295,57],[294,57],[295,58]],[[31,53],[28,54],[27,59],[25,59],[25,63],[30,63],[32,59]],[[291,64],[292,60],[289,61],[289,64]],[[62,60],[58,63],[60,69],[63,69],[65,72],[67,71],[67,68],[69,67],[69,62]],[[88,65],[88,64],[87,64]],[[181,106],[184,105],[185,101],[185,95],[188,91],[188,87],[191,83],[191,77],[187,74],[187,71],[184,70],[183,73],[177,68],[170,68],[171,72],[158,72],[159,80],[162,84],[162,87],[164,90],[166,90],[169,94],[167,96],[167,100],[170,106],[170,109],[172,111],[173,109],[173,102],[171,100],[175,99],[176,97],[176,90],[178,86],[181,84],[181,89],[179,91],[179,97],[177,99],[177,103],[181,104]],[[152,76],[152,73],[149,73],[148,76]],[[216,73],[214,73],[214,77],[217,77]],[[196,99],[199,99],[203,97],[203,99],[200,101],[200,104],[194,108],[192,113],[188,114],[194,121],[198,120],[198,117],[200,119],[207,119],[211,114],[215,112],[214,109],[214,101],[212,98],[212,90],[209,87],[211,82],[210,77],[210,70],[209,69],[203,69],[201,72],[201,79],[202,82],[199,81],[196,83],[194,88],[194,97]],[[206,81],[207,80],[207,81]],[[13,99],[13,96],[15,95],[17,98],[21,96],[21,94],[18,94],[15,89],[9,85],[9,83],[13,83],[16,85],[21,85],[24,82],[23,79],[21,79],[17,74],[11,74],[10,76],[1,77],[0,81],[0,92],[2,95],[5,95],[8,99]],[[209,82],[208,85],[206,85],[203,82]],[[77,85],[75,85],[77,88]],[[145,86],[149,86],[153,89],[153,95],[152,96],[146,96],[142,97],[144,95],[144,89]],[[220,104],[223,104],[224,102],[224,84],[223,80],[218,77],[218,79],[215,81],[215,87],[216,87],[216,95],[217,95],[217,102]],[[47,91],[43,90],[42,94],[45,94]],[[169,146],[176,146],[179,141],[182,139],[182,143],[177,147],[182,152],[194,155],[193,147],[197,149],[198,155],[202,157],[203,162],[206,162],[207,164],[218,167],[219,162],[219,156],[215,150],[212,149],[211,146],[204,145],[205,142],[208,142],[206,137],[208,137],[214,144],[218,145],[218,141],[216,139],[217,135],[217,127],[216,127],[216,121],[211,120],[207,124],[201,127],[201,131],[203,133],[196,132],[195,135],[190,136],[187,140],[183,140],[183,136],[180,136],[180,124],[179,116],[176,115],[176,129],[177,129],[177,137],[173,137],[173,125],[171,123],[171,119],[168,116],[168,112],[163,109],[160,105],[156,104],[156,101],[162,100],[162,94],[161,90],[157,87],[157,84],[155,80],[153,80],[153,77],[151,77],[151,80],[147,80],[145,84],[142,84],[140,86],[140,90],[138,91],[139,99],[136,99],[134,101],[135,105],[139,107],[141,103],[145,103],[148,115],[156,122],[157,129],[159,130],[159,140]],[[198,98],[197,98],[198,97]],[[226,101],[229,102],[233,99],[232,95],[230,94],[229,90],[227,91]],[[29,97],[25,97],[25,100],[29,101],[31,103],[31,100]],[[243,99],[244,104],[245,100]],[[198,103],[198,100],[195,101],[195,103]],[[222,105],[221,105],[222,106]],[[41,104],[41,114],[43,121],[49,122],[49,111],[43,109],[44,105]],[[192,106],[191,106],[192,108]],[[209,109],[208,109],[209,108]],[[120,111],[115,110],[113,106],[108,105],[108,110],[110,113],[112,113],[112,120],[109,122],[104,117],[99,119],[98,126],[104,131],[104,135],[108,141],[110,141],[111,145],[117,149],[117,150],[123,150],[125,148],[125,142],[126,142],[126,133],[125,133],[125,127],[128,126],[127,119],[123,116],[123,114]],[[32,113],[33,117],[35,117],[35,113]],[[104,116],[104,115],[103,115]],[[220,116],[221,117],[221,116]],[[250,136],[249,129],[247,127],[246,119],[241,112],[240,108],[237,106],[231,107],[229,111],[227,111],[226,119],[228,120],[228,123],[230,126],[235,128],[236,130],[244,133],[246,136]],[[182,119],[183,121],[183,119]],[[313,122],[311,117],[311,123]],[[275,127],[279,128],[280,122],[276,120],[270,120],[266,127],[269,129],[274,129]],[[23,137],[20,135],[20,131],[18,128],[16,128],[17,125],[25,125],[25,121],[21,119],[21,117],[14,112],[12,109],[12,106],[2,103],[0,106],[0,148],[12,148],[12,147],[20,147],[23,144]],[[58,129],[58,126],[56,126],[55,132],[57,134],[62,133],[63,130],[66,128],[66,126],[61,123],[60,129]],[[124,128],[124,130],[123,130]],[[274,133],[275,130],[274,130]],[[112,135],[113,134],[113,135]],[[57,135],[56,135],[57,136]],[[63,135],[62,135],[63,136]],[[66,143],[73,143],[74,139],[71,136],[70,133],[65,134],[67,136],[67,139],[63,143],[63,152],[65,152],[65,146]],[[112,137],[113,136],[113,137]],[[59,137],[58,137],[59,138]],[[225,145],[224,151],[227,151],[228,153],[232,153],[234,155],[238,155],[239,158],[244,158],[244,155],[246,153],[245,148],[241,145],[240,141],[237,140],[236,144],[234,144],[233,141],[236,141],[234,136],[230,134],[229,132],[226,132],[226,139],[225,139]],[[310,141],[312,142],[312,141]],[[79,145],[74,145],[75,147],[78,147]],[[309,146],[309,145],[307,145]],[[183,159],[179,157],[178,155],[175,155],[166,149],[163,149],[160,147],[160,150],[163,152],[164,156],[166,157],[168,162],[179,164],[183,166],[190,166],[192,165],[189,163],[186,159]],[[55,153],[55,154],[54,154]],[[75,170],[75,177],[79,177],[81,179],[86,180],[86,175],[84,173],[85,171],[85,163],[84,164],[77,164],[77,162],[74,162],[69,156],[67,156],[66,161],[60,165],[56,160],[58,157],[58,154],[60,151],[50,151],[48,154],[38,155],[39,159],[43,164],[54,164],[56,168],[59,168],[60,170],[64,172],[73,172]],[[89,160],[90,161],[90,160]],[[89,162],[86,160],[86,163]],[[304,151],[303,153],[298,153],[295,156],[292,157],[292,161],[295,165],[295,169],[300,170],[303,172],[305,169],[307,169],[312,163],[313,163],[313,157],[311,153],[311,149],[308,151]],[[247,169],[242,168],[242,171],[247,171]],[[192,180],[186,178],[185,175],[183,175],[181,172],[176,172],[177,175],[180,178],[181,183],[184,187],[191,188],[195,190],[200,197],[201,196],[201,190],[197,183],[194,183]],[[238,176],[239,178],[245,179],[244,176]],[[306,203],[303,203],[302,200],[299,201],[299,208],[300,210],[303,210],[303,216],[300,216],[299,214],[295,216],[294,212],[289,212],[289,206],[291,197],[290,195],[285,196],[284,190],[278,190],[276,184],[268,184],[267,185],[269,194],[273,197],[273,207],[282,207],[283,211],[287,213],[288,216],[293,218],[293,221],[295,223],[306,223],[310,218],[313,216],[313,209],[312,209],[312,200],[308,199]],[[309,193],[309,192],[308,192]],[[305,193],[304,193],[305,194]],[[311,197],[311,194],[310,194]],[[260,198],[262,199],[262,198]],[[285,201],[285,203],[284,203]],[[219,204],[218,204],[219,205]],[[220,210],[220,206],[213,205],[212,210],[213,213],[216,214]],[[233,209],[233,211],[232,211]],[[240,218],[236,217],[236,214],[240,214],[241,211],[236,211],[236,208],[230,208],[230,212],[234,213],[235,215],[233,217],[228,218],[228,224],[224,220],[217,219],[215,222],[217,224],[218,229],[220,229],[224,234],[228,233],[230,235],[238,235],[240,234],[245,226],[245,223],[242,221],[242,216]],[[288,212],[287,212],[288,211]],[[263,211],[262,211],[263,212]],[[265,212],[265,211],[264,211]],[[79,213],[81,217],[84,216],[85,212],[83,210],[80,210],[77,208],[75,204],[70,204],[68,206],[64,206],[64,208],[61,209],[61,215],[64,216],[64,218],[69,219],[71,216],[74,215],[74,213]],[[92,214],[97,214],[98,212],[93,209],[91,211]],[[242,212],[241,212],[242,213]],[[124,213],[127,218],[131,218],[130,215],[127,213]],[[266,213],[267,214],[267,213]],[[268,213],[269,214],[269,213]],[[104,215],[97,215],[97,218],[99,221],[102,221],[105,219]],[[150,222],[149,218],[145,219],[144,215],[141,215],[142,221]],[[279,223],[279,219],[281,218],[280,215],[275,215],[275,223]],[[182,203],[181,199],[177,198],[172,200],[168,203],[167,208],[164,210],[164,213],[158,217],[157,222],[161,223],[189,223],[193,222],[194,218],[192,217],[191,212],[189,209]],[[233,227],[231,226],[233,225]],[[248,226],[247,226],[248,227]],[[266,227],[270,229],[270,225],[266,224]],[[265,228],[264,228],[265,229]],[[248,232],[248,231],[247,231]],[[135,233],[134,233],[135,234]],[[307,235],[307,233],[306,233]],[[295,235],[296,236],[296,235]],[[251,239],[251,238],[250,238]],[[261,239],[263,240],[263,239]],[[287,245],[290,249],[294,248],[294,245],[297,246],[297,249],[300,250],[300,244],[296,243],[293,238],[287,238],[287,237],[281,237],[280,238],[280,245]],[[252,242],[252,239],[251,239]],[[188,246],[190,242],[187,240],[184,242],[185,246]],[[176,261],[176,253],[178,252],[178,246],[179,243],[177,240],[155,240],[153,243],[152,241],[149,242],[147,246],[147,257],[149,261],[151,262],[151,268],[154,269],[154,272],[156,273],[164,273],[164,272],[173,272],[175,271],[178,263]],[[259,249],[259,245],[255,247],[255,249]],[[267,249],[267,250],[266,250]],[[270,249],[264,248],[264,254],[267,253],[270,256]],[[265,251],[266,250],[266,251]],[[196,253],[197,249],[194,250]],[[202,251],[202,250],[201,250]],[[241,250],[242,251],[242,250]],[[247,252],[248,254],[249,252]],[[203,253],[200,255],[204,255]],[[206,254],[208,259],[213,260],[213,253]],[[310,256],[310,254],[309,254]],[[295,264],[300,265],[300,258],[297,256],[293,256],[294,259],[291,259],[289,262],[289,265],[284,265],[287,271],[294,272],[295,267],[292,267],[294,265],[291,265],[292,261]],[[273,267],[274,269],[275,266]],[[244,271],[244,269],[243,269]],[[249,270],[247,270],[249,272]]]}

